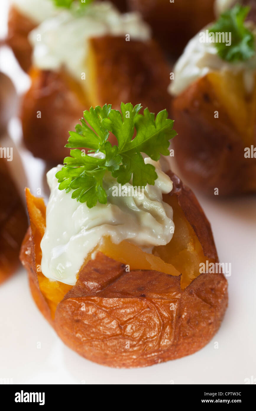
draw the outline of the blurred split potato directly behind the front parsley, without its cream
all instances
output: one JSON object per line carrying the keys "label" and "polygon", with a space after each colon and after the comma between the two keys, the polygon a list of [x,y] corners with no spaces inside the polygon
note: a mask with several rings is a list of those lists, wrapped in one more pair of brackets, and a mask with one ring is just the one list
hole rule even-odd
{"label": "blurred split potato directly behind the front parsley, without its cream", "polygon": [[[154,64],[152,64],[154,62]],[[69,154],[64,147],[68,130],[91,106],[120,101],[136,104],[158,113],[170,106],[169,68],[153,41],[126,42],[123,37],[90,40],[88,89],[66,72],[30,72],[32,85],[23,98],[21,119],[26,147],[36,157],[58,163]],[[40,113],[41,118],[38,118]]]}

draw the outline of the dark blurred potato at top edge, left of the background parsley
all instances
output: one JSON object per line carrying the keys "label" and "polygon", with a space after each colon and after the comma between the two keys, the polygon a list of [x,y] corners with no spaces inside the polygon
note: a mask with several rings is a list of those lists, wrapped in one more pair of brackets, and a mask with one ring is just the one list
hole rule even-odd
{"label": "dark blurred potato at top edge, left of the background parsley", "polygon": [[178,56],[202,27],[214,20],[214,0],[128,0],[131,10],[141,12],[164,50]]}

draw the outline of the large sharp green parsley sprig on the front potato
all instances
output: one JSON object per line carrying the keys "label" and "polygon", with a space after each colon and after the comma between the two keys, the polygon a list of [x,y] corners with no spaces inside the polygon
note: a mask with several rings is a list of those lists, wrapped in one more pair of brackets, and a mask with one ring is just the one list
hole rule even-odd
{"label": "large sharp green parsley sprig on the front potato", "polygon": [[[72,191],[72,198],[94,207],[97,201],[106,204],[107,195],[103,178],[107,171],[124,185],[132,179],[134,186],[154,185],[157,179],[155,167],[145,164],[141,152],[157,161],[160,155],[169,155],[169,140],[177,133],[173,120],[166,110],[155,114],[141,104],[121,104],[121,111],[111,109],[111,105],[92,107],[83,112],[81,124],[76,132],[69,132],[66,147],[71,148],[70,157],[64,159],[64,167],[56,173],[59,189]],[[136,135],[134,137],[134,132]],[[117,139],[117,145],[108,141],[110,132]],[[103,153],[105,158],[92,157],[85,153]]]}

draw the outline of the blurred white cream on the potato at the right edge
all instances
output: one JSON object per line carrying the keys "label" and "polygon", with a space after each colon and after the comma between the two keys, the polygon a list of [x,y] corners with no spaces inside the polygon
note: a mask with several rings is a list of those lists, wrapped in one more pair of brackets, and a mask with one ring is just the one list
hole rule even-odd
{"label": "blurred white cream on the potato at the right edge", "polygon": [[[249,24],[255,35],[255,26],[252,27],[251,23]],[[207,28],[210,28],[210,26]],[[207,28],[204,28],[201,32]],[[215,43],[203,43],[200,42],[200,38],[200,33],[198,33],[188,42],[183,54],[174,66],[174,79],[168,87],[168,92],[177,96],[194,81],[209,72],[229,71],[234,74],[242,72],[245,89],[250,93],[254,88],[256,55],[243,62],[228,63],[219,57],[217,48],[214,46]]]}

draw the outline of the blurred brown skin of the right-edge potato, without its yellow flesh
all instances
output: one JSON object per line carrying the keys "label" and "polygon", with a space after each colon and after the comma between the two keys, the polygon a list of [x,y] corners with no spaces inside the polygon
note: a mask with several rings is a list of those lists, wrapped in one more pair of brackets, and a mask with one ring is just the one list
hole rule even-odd
{"label": "blurred brown skin of the right-edge potato, without its yellow flesh", "polygon": [[244,158],[246,145],[206,76],[173,99],[172,115],[175,158],[188,181],[208,195],[216,187],[221,196],[256,192],[256,159]]}

